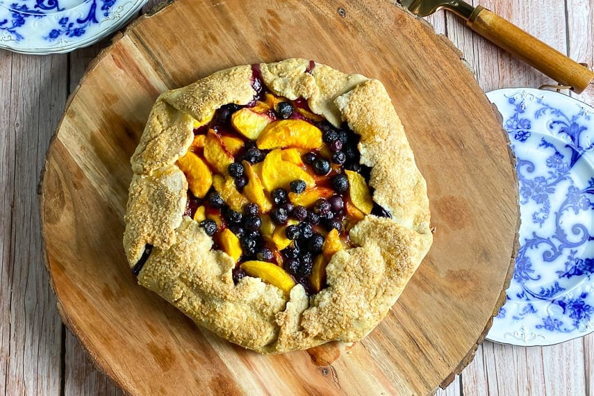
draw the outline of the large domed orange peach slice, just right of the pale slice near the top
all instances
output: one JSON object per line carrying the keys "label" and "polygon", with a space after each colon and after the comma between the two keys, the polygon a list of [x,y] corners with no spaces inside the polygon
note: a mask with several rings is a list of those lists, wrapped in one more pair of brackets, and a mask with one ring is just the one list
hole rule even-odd
{"label": "large domed orange peach slice, just right of the pale slice near the top", "polygon": [[281,147],[301,147],[320,149],[322,131],[302,119],[281,119],[268,124],[256,141],[258,149],[279,149]]}

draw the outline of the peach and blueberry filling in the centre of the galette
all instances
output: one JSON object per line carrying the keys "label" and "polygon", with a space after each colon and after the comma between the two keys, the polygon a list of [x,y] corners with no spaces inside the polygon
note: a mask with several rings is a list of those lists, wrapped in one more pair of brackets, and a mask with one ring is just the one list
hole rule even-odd
{"label": "peach and blueberry filling in the centre of the galette", "polygon": [[188,179],[184,215],[236,261],[235,283],[258,277],[286,294],[301,283],[313,295],[326,286],[331,256],[352,246],[349,230],[365,215],[390,213],[372,201],[358,135],[304,99],[272,94],[253,70],[254,101],[195,122],[177,162]]}

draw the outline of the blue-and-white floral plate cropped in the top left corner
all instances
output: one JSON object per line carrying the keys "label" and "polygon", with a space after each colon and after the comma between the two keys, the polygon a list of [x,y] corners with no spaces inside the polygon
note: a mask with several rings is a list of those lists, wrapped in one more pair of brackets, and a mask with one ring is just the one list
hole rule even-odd
{"label": "blue-and-white floral plate cropped in the top left corner", "polygon": [[147,0],[0,0],[0,49],[62,53],[122,27]]}

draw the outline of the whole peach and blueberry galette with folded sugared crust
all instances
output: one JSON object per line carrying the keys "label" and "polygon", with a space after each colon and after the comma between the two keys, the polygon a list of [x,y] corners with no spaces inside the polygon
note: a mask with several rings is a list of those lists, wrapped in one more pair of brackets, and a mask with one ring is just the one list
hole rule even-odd
{"label": "whole peach and blueberry galette with folded sugared crust", "polygon": [[425,181],[385,88],[313,61],[161,94],[131,163],[138,283],[257,352],[360,340],[431,245]]}

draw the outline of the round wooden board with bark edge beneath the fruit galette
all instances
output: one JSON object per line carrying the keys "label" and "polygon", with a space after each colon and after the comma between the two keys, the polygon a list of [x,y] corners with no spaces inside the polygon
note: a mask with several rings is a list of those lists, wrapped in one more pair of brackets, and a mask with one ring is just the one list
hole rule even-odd
{"label": "round wooden board with bark edge beneath the fruit galette", "polygon": [[[225,67],[290,57],[383,81],[437,229],[388,317],[338,358],[336,345],[317,349],[317,364],[307,352],[260,356],[196,327],[135,284],[122,247],[129,158],[158,94]],[[396,6],[176,1],[99,55],[49,150],[42,232],[60,313],[132,394],[431,393],[468,364],[502,302],[518,229],[510,158],[456,52]]]}

